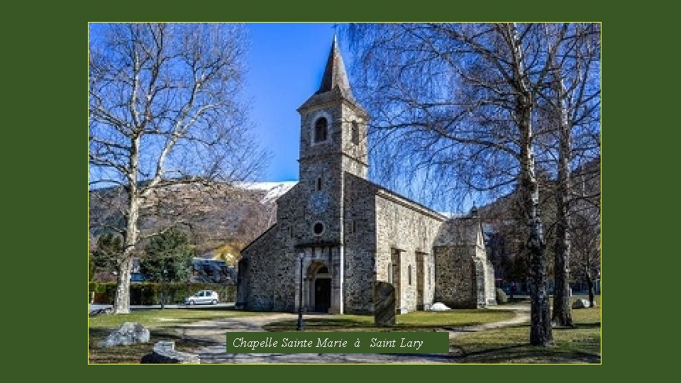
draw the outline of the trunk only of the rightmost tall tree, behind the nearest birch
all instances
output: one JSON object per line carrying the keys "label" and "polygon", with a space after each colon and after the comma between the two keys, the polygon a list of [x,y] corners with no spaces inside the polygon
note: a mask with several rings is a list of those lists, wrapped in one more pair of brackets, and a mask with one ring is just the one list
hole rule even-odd
{"label": "trunk only of the rightmost tall tree, behind the nearest birch", "polygon": [[553,321],[558,326],[572,326],[570,307],[570,124],[563,104],[565,87],[560,78],[555,79],[558,92],[558,184],[555,189],[556,235],[554,249]]}

